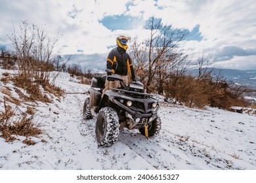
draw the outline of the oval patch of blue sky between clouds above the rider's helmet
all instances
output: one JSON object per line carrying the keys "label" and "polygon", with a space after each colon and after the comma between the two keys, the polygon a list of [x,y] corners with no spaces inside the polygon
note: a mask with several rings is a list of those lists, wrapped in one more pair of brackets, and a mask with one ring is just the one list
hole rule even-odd
{"label": "oval patch of blue sky between clouds above the rider's helmet", "polygon": [[125,14],[115,15],[115,16],[105,16],[99,21],[102,25],[108,29],[114,31],[117,29],[131,30],[136,29],[143,23],[142,18],[135,16],[128,16]]}

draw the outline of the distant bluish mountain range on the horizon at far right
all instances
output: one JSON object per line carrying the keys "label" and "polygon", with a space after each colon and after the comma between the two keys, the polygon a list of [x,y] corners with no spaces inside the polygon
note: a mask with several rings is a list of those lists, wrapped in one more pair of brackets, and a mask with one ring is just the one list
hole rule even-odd
{"label": "distant bluish mountain range on the horizon at far right", "polygon": [[[214,69],[216,73],[221,71],[221,76],[226,78],[227,82],[232,84],[241,84],[250,88],[256,88],[256,70],[237,70],[237,69]],[[197,70],[193,69],[193,73],[196,75]]]}

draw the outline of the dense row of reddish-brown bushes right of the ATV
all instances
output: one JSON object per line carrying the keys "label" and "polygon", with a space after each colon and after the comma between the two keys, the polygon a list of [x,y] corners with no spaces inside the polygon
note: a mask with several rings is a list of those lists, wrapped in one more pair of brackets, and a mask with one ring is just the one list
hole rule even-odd
{"label": "dense row of reddish-brown bushes right of the ATV", "polygon": [[203,108],[207,105],[228,109],[231,106],[247,107],[242,97],[246,88],[230,86],[224,80],[215,81],[206,75],[196,78],[192,75],[172,76],[165,83],[165,97],[175,98],[188,107]]}

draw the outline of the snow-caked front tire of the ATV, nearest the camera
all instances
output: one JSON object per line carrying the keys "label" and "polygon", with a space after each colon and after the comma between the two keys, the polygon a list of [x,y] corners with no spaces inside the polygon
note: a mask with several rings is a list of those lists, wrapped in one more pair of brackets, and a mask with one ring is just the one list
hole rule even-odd
{"label": "snow-caked front tire of the ATV, nearest the camera", "polygon": [[101,108],[96,119],[96,140],[98,146],[111,146],[119,135],[119,118],[116,110],[110,107]]}

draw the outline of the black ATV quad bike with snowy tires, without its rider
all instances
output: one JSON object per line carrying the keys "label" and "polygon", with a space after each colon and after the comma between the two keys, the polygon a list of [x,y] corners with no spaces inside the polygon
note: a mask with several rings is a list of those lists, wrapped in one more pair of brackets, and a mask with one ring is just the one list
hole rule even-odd
{"label": "black ATV quad bike with snowy tires, without its rider", "polygon": [[[119,80],[121,88],[110,88],[102,96],[106,80]],[[123,127],[139,129],[146,138],[160,132],[161,120],[157,115],[160,105],[154,95],[144,93],[140,81],[124,86],[123,79],[117,75],[94,76],[89,93],[90,97],[83,105],[83,118],[96,118],[95,133],[99,146],[114,144],[119,129]]]}

